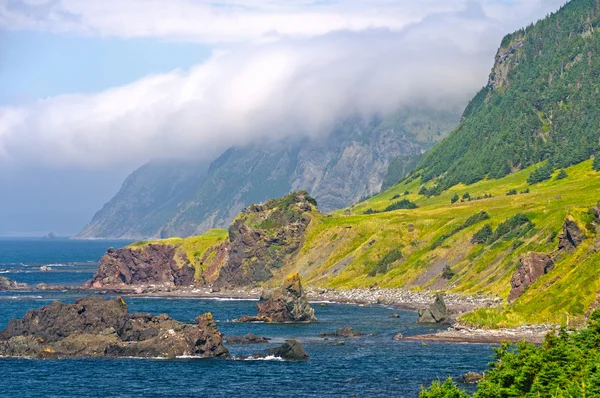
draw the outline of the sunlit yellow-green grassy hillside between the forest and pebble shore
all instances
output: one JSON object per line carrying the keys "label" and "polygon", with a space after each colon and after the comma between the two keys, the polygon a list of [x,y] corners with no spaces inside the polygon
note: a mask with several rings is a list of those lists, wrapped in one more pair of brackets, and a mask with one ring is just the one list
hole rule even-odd
{"label": "sunlit yellow-green grassy hillside between the forest and pebble shore", "polygon": [[[598,237],[589,212],[600,200],[600,172],[588,160],[565,169],[566,178],[557,180],[556,171],[548,181],[529,184],[528,177],[540,166],[499,180],[457,185],[435,197],[418,193],[418,179],[402,182],[347,210],[331,215],[313,212],[303,245],[265,284],[278,285],[285,275],[300,272],[314,287],[402,287],[506,299],[519,259],[533,251],[556,256],[554,270],[514,303],[505,300],[502,308],[479,310],[464,321],[490,327],[580,322],[600,292]],[[452,203],[466,193],[470,200]],[[403,199],[417,207],[384,211]],[[485,225],[498,234],[498,226],[518,214],[530,223],[493,242],[472,242]],[[572,254],[557,252],[557,236],[567,217],[586,235]],[[226,237],[226,231],[213,230],[154,243],[181,247],[200,275],[203,266],[198,259],[216,252]],[[133,246],[148,243],[153,242]]]}

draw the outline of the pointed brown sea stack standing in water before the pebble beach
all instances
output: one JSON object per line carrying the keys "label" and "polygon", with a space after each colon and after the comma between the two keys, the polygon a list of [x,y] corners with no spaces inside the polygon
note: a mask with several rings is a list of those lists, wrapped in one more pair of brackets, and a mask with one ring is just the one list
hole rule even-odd
{"label": "pointed brown sea stack standing in water before the pebble beach", "polygon": [[288,276],[279,289],[263,292],[255,317],[242,317],[239,322],[314,322],[317,320],[302,288],[299,274]]}

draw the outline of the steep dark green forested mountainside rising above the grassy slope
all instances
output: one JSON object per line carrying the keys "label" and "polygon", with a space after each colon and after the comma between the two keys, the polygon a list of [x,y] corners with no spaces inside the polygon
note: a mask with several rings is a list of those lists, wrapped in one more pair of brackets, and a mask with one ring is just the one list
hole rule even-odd
{"label": "steep dark green forested mountainside rising above the grassy slope", "polygon": [[501,178],[549,160],[555,168],[600,149],[600,4],[573,0],[507,35],[488,84],[462,122],[415,170],[436,190]]}

